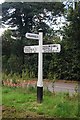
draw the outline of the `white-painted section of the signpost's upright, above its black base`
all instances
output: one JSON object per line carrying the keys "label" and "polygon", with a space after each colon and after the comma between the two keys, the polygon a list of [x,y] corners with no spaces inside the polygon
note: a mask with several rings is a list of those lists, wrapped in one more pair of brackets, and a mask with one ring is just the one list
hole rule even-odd
{"label": "white-painted section of the signpost's upright, above its black base", "polygon": [[39,32],[39,54],[38,54],[38,81],[37,81],[37,87],[43,87],[43,54],[42,54],[42,45],[43,45],[43,33]]}

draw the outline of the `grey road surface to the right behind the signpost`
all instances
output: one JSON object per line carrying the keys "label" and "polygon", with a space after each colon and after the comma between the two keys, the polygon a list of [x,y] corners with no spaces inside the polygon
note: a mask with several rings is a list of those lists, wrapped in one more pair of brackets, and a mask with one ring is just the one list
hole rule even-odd
{"label": "grey road surface to the right behind the signpost", "polygon": [[[48,89],[53,92],[52,82],[44,82],[44,89]],[[78,86],[77,82],[55,82],[54,83],[54,91],[55,92],[69,92],[73,94],[75,92],[75,88]]]}

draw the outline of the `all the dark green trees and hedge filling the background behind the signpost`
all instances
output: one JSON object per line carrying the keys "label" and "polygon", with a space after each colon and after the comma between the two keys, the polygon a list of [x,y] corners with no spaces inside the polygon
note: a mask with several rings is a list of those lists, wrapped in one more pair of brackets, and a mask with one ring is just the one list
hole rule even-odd
{"label": "all the dark green trees and hedge filling the background behind the signpost", "polygon": [[[25,38],[26,32],[38,33],[39,28],[44,28],[43,44],[61,44],[60,53],[43,55],[43,78],[80,80],[80,2],[76,9],[70,7],[67,11],[68,25],[64,27],[63,40],[54,36],[54,31],[45,22],[53,20],[54,16],[60,16],[64,11],[62,3],[4,3],[2,22],[8,25],[18,26],[18,29],[8,30],[2,36],[2,70],[9,74],[23,74],[24,78],[37,77],[38,55],[24,54],[23,48],[27,45],[38,45],[38,41]],[[14,8],[14,12],[9,13]],[[10,9],[10,10],[9,10]],[[48,15],[51,12],[52,16]],[[22,22],[24,19],[24,22]],[[52,19],[52,20],[51,20]],[[52,21],[54,23],[54,21]],[[67,23],[66,23],[67,24]],[[34,29],[33,29],[34,28]],[[75,31],[76,30],[76,31]],[[16,40],[11,35],[18,36]],[[27,69],[27,76],[26,74]]]}

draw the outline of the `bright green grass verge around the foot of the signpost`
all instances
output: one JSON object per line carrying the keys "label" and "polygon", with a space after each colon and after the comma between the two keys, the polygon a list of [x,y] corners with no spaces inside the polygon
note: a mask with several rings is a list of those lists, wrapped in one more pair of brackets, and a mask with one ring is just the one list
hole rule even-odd
{"label": "bright green grass verge around the foot of the signpost", "polygon": [[44,92],[43,102],[39,104],[36,101],[36,89],[34,88],[3,87],[2,91],[3,106],[9,107],[11,110],[15,108],[17,117],[18,112],[23,117],[27,114],[62,118],[74,118],[78,115],[77,96],[70,97],[66,93],[52,94],[46,91]]}

